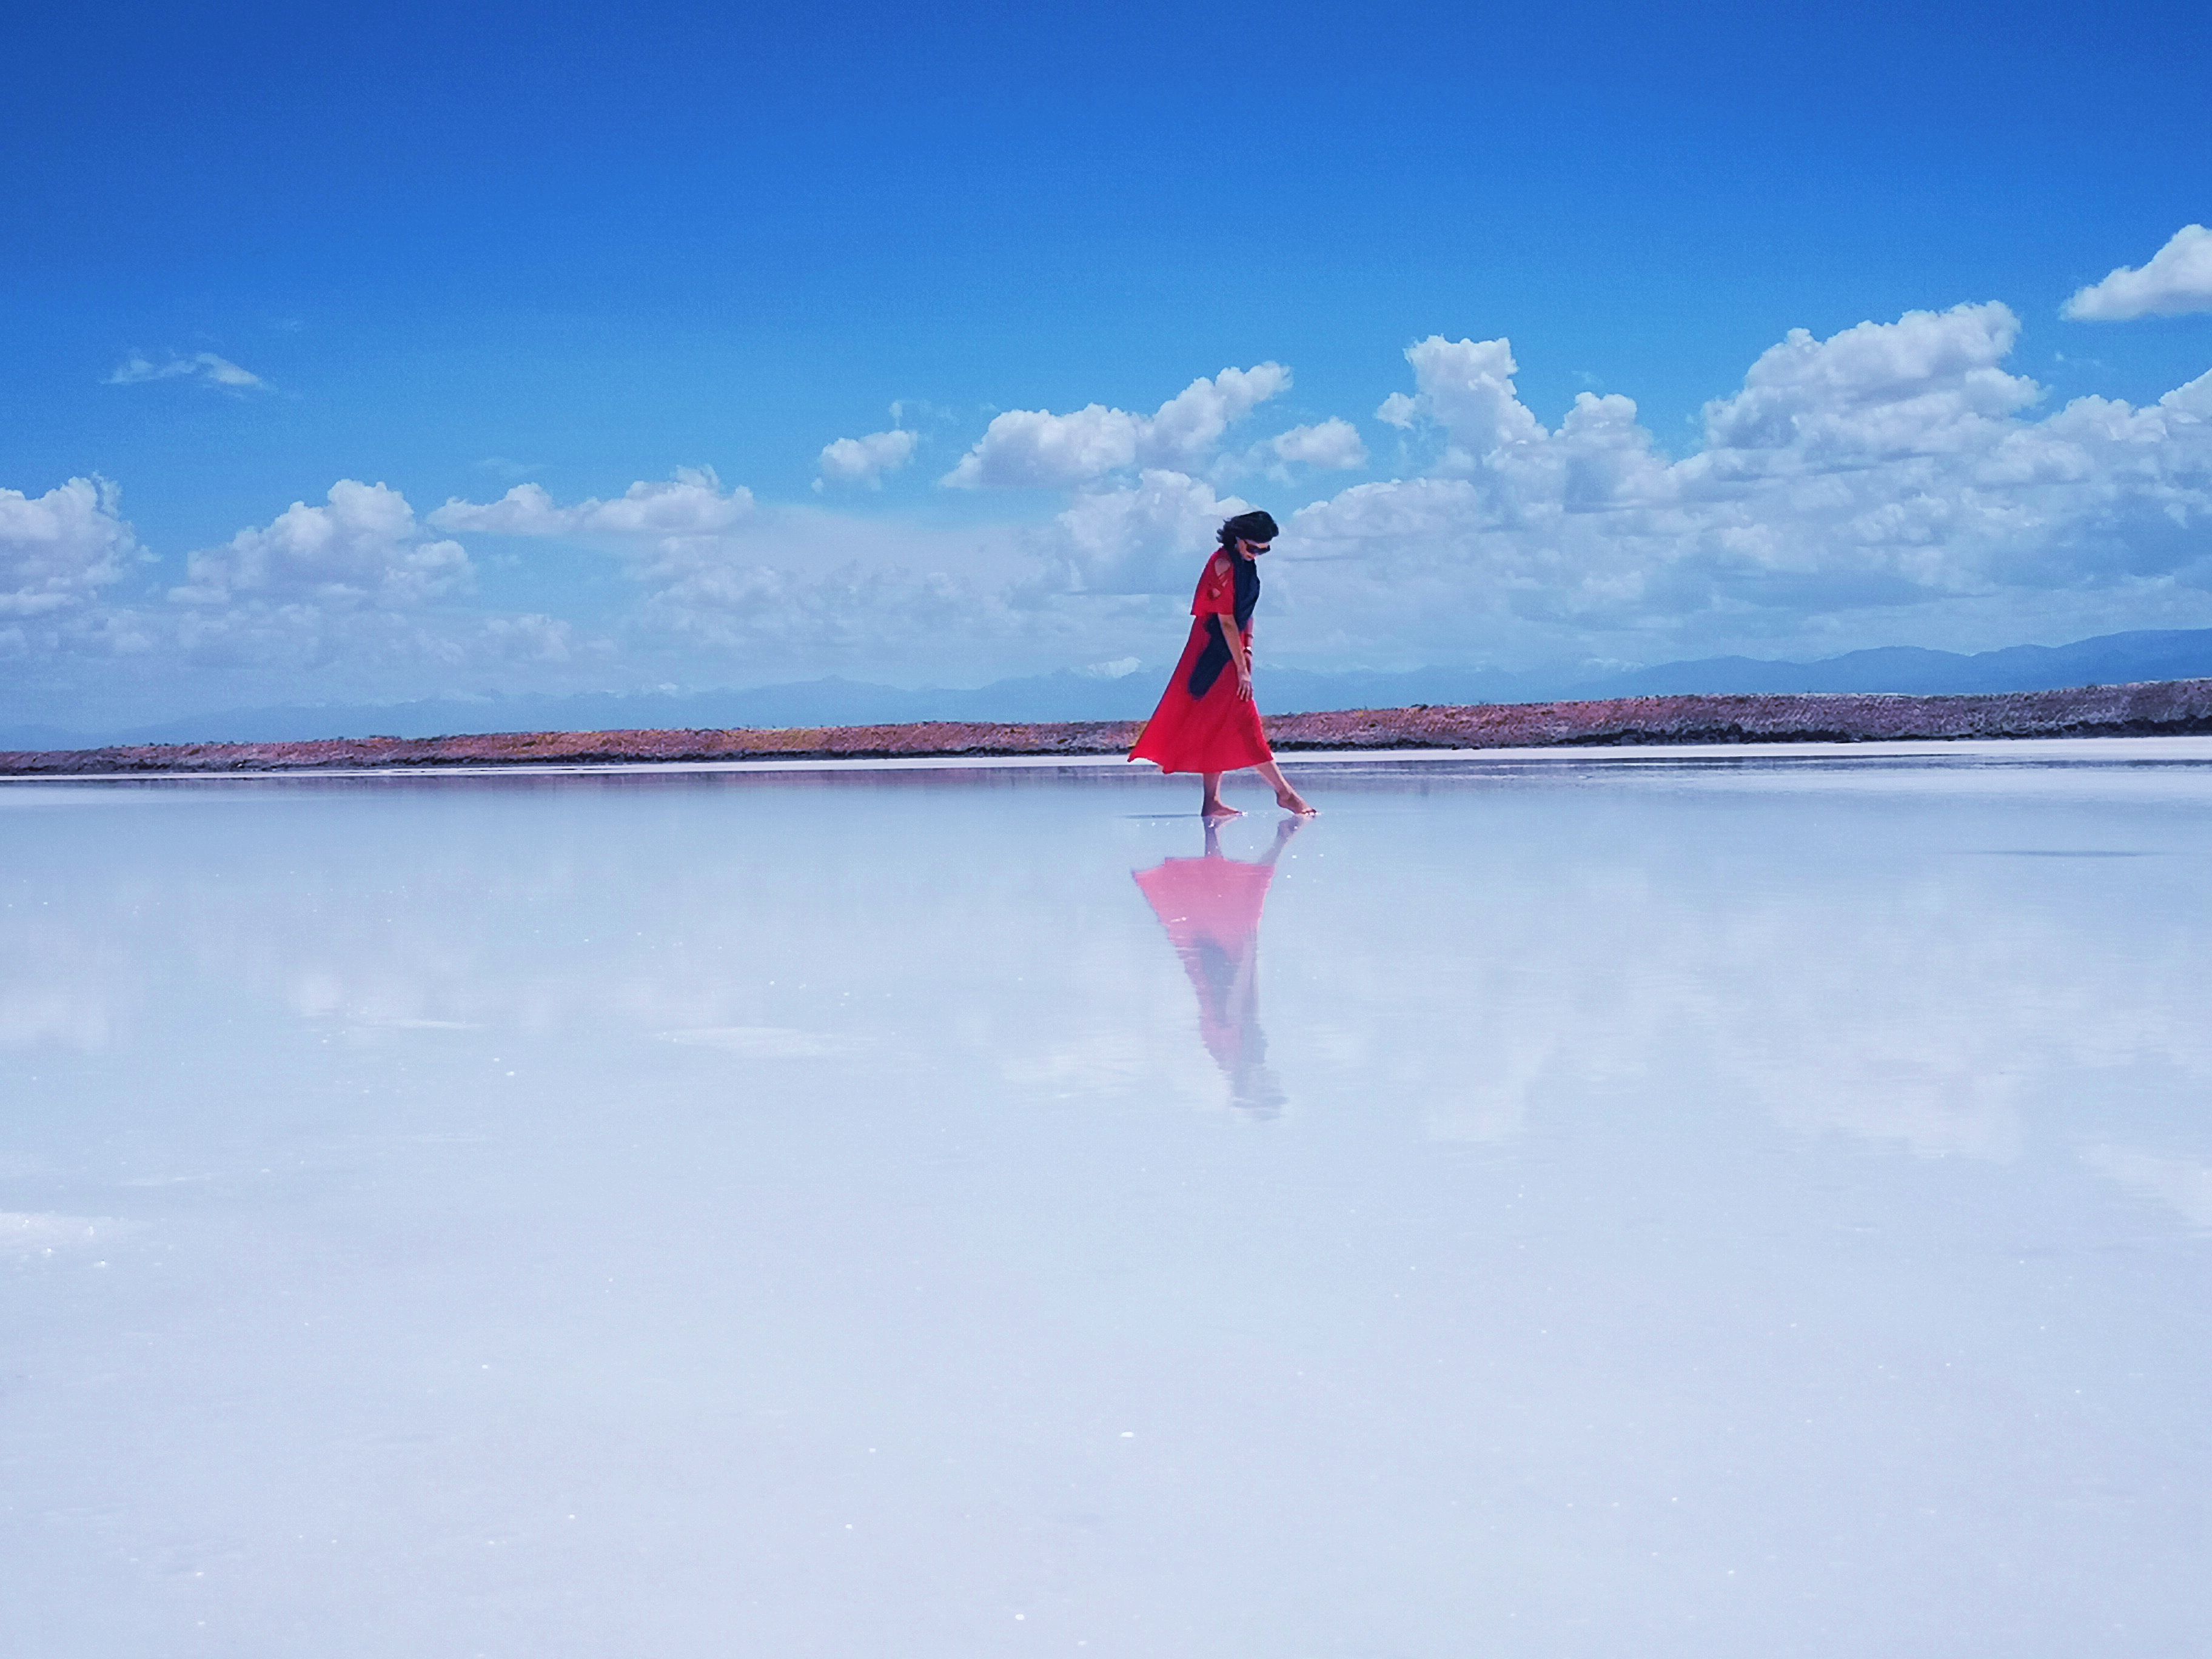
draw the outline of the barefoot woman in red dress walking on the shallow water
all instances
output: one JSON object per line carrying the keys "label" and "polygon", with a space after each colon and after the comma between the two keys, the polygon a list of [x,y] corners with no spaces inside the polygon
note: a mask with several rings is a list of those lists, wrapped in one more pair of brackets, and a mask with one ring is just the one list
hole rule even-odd
{"label": "barefoot woman in red dress walking on the shallow water", "polygon": [[1239,513],[1221,526],[1221,546],[1206,560],[1199,593],[1190,602],[1190,641],[1175,664],[1175,677],[1137,734],[1133,761],[1152,761],[1161,772],[1197,772],[1206,785],[1199,814],[1234,818],[1221,799],[1221,774],[1256,768],[1283,812],[1314,816],[1305,796],[1290,787],[1274,763],[1267,734],[1252,701],[1252,608],[1259,604],[1259,555],[1274,542],[1267,513]]}

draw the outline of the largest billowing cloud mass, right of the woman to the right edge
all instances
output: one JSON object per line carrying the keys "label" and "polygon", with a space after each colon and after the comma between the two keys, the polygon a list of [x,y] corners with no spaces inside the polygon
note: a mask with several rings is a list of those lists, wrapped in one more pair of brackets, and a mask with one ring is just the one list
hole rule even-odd
{"label": "largest billowing cloud mass, right of the woman to the right edge", "polygon": [[1345,562],[1314,575],[1340,639],[1383,626],[1365,586],[1433,628],[1400,641],[1422,655],[1613,633],[1650,661],[1851,611],[2212,586],[2212,376],[2033,418],[2042,389],[2004,369],[2017,334],[1995,303],[1792,332],[1705,405],[1683,460],[1621,396],[1546,429],[1506,341],[1433,336],[1380,414],[1433,429],[1436,465],[1303,509],[1285,549]]}

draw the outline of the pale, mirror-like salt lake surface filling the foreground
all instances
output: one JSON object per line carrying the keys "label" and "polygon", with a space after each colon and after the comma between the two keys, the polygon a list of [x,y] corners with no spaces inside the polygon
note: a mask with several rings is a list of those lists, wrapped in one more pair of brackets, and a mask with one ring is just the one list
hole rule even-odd
{"label": "pale, mirror-like salt lake surface filling the foreground", "polygon": [[2194,1655],[2212,743],[0,785],[0,1608]]}

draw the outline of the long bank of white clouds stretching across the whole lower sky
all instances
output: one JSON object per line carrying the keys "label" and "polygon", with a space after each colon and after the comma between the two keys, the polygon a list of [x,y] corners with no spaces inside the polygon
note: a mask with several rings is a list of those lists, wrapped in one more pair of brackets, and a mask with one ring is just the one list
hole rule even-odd
{"label": "long bank of white clouds stretching across the whole lower sky", "polygon": [[[635,684],[975,684],[1150,661],[1181,637],[1217,524],[1248,507],[1237,471],[1276,480],[1245,489],[1285,524],[1267,566],[1279,664],[1531,668],[2212,626],[2212,376],[2141,407],[2051,409],[2008,367],[2017,336],[2004,305],[1794,332],[1705,405],[1681,458],[1624,396],[1586,392],[1546,425],[1506,341],[1431,336],[1380,411],[1407,434],[1407,471],[1352,487],[1292,482],[1310,478],[1292,467],[1358,465],[1347,420],[1221,447],[1287,385],[1274,365],[1197,380],[1150,416],[1002,418],[962,462],[978,482],[1073,484],[1048,507],[936,522],[757,504],[708,471],[573,504],[520,484],[427,520],[387,487],[341,482],[327,504],[195,553],[186,604],[133,597],[148,555],[113,487],[73,480],[0,493],[0,653],[11,688],[73,719],[122,679],[175,695],[201,670],[192,684],[232,690],[195,701],[223,706],[296,699],[303,672],[319,697],[407,697],[604,684],[608,664]],[[546,599],[531,604],[551,617],[458,604],[473,573],[442,538],[460,533],[604,549],[633,595],[604,615],[595,599],[591,628],[615,644]],[[119,653],[142,668],[117,677]]]}

